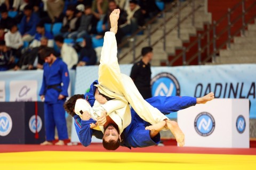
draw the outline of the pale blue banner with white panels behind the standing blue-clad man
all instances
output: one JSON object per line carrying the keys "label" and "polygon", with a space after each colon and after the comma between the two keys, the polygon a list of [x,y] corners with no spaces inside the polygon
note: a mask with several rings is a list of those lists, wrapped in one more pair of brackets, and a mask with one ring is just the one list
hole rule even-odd
{"label": "pale blue banner with white panels behind the standing blue-clad man", "polygon": [[[69,96],[74,94],[75,71],[69,70]],[[41,101],[43,70],[0,72],[0,101]]]}

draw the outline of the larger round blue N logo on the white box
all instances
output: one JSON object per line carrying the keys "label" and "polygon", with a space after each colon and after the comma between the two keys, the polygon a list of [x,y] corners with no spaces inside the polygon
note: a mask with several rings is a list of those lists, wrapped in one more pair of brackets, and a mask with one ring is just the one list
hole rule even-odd
{"label": "larger round blue N logo on the white box", "polygon": [[195,118],[195,129],[199,135],[206,137],[214,131],[215,121],[210,113],[199,113]]}

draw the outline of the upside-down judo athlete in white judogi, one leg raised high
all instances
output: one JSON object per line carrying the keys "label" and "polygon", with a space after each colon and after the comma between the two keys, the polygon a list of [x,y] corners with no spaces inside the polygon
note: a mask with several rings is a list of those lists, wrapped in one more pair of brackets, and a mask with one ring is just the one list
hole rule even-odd
{"label": "upside-down judo athlete in white judogi, one leg raised high", "polygon": [[[143,120],[152,124],[151,126],[147,126],[146,130],[154,130],[159,126],[164,126],[163,130],[171,130],[179,146],[183,146],[185,136],[177,122],[170,121],[158,109],[147,103],[140,95],[132,79],[120,71],[115,38],[119,13],[120,11],[117,9],[110,14],[111,28],[104,36],[99,65],[99,84],[95,85],[100,94],[112,100],[107,101],[104,105],[95,101],[92,109],[89,104],[83,105],[83,103],[79,103],[85,100],[78,99],[75,106],[75,113],[82,116],[81,111],[88,111],[92,118],[97,120],[99,125],[98,130],[100,128],[104,133],[103,142],[116,142],[120,139],[120,134],[123,130],[131,123],[130,104]],[[113,124],[118,129],[115,129]],[[112,131],[117,131],[117,134],[115,132],[115,135],[112,135]]]}

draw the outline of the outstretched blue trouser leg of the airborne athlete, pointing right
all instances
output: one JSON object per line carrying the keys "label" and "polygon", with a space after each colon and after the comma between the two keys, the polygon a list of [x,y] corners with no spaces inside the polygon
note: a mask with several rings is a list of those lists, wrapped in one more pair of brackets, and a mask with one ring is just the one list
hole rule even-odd
{"label": "outstretched blue trouser leg of the airborne athlete, pointing right", "polygon": [[160,112],[168,114],[196,105],[196,98],[189,96],[155,96],[146,101]]}

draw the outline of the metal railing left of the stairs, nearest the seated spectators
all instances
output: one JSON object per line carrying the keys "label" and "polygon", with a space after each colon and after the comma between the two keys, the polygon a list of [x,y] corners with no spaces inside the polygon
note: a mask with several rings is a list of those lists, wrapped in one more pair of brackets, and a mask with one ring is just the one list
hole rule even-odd
{"label": "metal railing left of the stairs, nearest the seated spectators", "polygon": [[[181,19],[181,12],[182,10],[187,7],[191,6],[191,12],[184,16]],[[175,11],[171,16],[168,18],[166,17],[166,13],[169,12],[173,7],[177,7],[177,11]],[[137,48],[139,45],[141,45],[144,41],[148,41],[148,45],[151,47],[154,47],[156,44],[158,44],[160,41],[163,41],[163,50],[166,51],[166,36],[169,35],[173,30],[177,29],[177,38],[180,38],[180,24],[183,23],[186,19],[191,17],[191,24],[195,25],[195,12],[202,7],[202,5],[195,6],[195,0],[188,0],[185,3],[181,5],[179,0],[176,0],[171,3],[169,7],[166,7],[162,12],[160,12],[157,16],[155,16],[153,19],[149,20],[142,28],[138,29],[135,31],[131,37],[126,38],[119,46],[118,49],[122,50],[123,47],[126,46],[127,43],[132,43],[132,47],[128,49],[124,54],[121,56],[118,55],[118,60],[121,61],[125,57],[127,57],[129,54],[132,53],[133,56],[133,61],[134,63],[138,58],[140,57],[140,54],[135,53],[135,48]],[[152,24],[156,21],[159,20],[159,16],[162,16],[162,23],[156,25],[156,27],[153,29]],[[174,17],[177,18],[177,23],[173,25],[172,28],[169,30],[166,29],[166,24],[168,24]],[[151,36],[154,36],[157,30],[162,29],[163,35],[159,37],[155,42],[152,42]],[[137,35],[141,31],[147,31],[146,38],[142,40],[137,40]]]}

